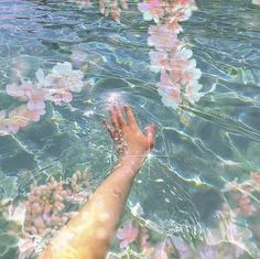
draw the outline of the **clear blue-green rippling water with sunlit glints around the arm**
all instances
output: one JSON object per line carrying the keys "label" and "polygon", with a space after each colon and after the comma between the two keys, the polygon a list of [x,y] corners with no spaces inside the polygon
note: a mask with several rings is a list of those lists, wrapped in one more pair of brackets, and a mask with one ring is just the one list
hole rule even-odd
{"label": "clear blue-green rippling water with sunlit glints around the arm", "polygon": [[[86,82],[72,101],[59,106],[48,99],[39,122],[0,137],[3,204],[24,203],[30,185],[47,184],[52,175],[72,188],[73,174],[88,169],[91,187],[75,191],[86,197],[84,190],[95,188],[117,160],[101,119],[120,100],[132,106],[142,128],[158,126],[155,149],[136,179],[122,226],[131,222],[148,231],[155,249],[175,247],[169,258],[260,258],[260,8],[240,0],[196,6],[177,36],[193,51],[202,91],[209,93],[195,105],[184,98],[176,108],[158,93],[160,73],[151,71],[149,57],[156,46],[148,44],[154,22],[143,20],[137,3],[129,3],[119,23],[95,2],[89,8],[75,1],[0,1],[0,110],[24,104],[7,95],[6,85],[21,77],[36,82],[39,68],[46,75],[71,62]],[[76,211],[78,203],[65,211]],[[1,229],[0,258],[18,258],[17,236],[30,238],[12,222]],[[118,242],[111,251],[119,253]],[[142,250],[137,240],[130,247]]]}

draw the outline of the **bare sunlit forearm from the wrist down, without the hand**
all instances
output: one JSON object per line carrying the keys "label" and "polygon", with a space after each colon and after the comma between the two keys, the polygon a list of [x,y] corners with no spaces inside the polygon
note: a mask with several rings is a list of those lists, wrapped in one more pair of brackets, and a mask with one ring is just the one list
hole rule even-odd
{"label": "bare sunlit forearm from the wrist down, without the hand", "polygon": [[79,214],[53,239],[41,259],[62,258],[61,251],[66,255],[75,252],[72,258],[77,259],[105,258],[144,158],[123,157]]}

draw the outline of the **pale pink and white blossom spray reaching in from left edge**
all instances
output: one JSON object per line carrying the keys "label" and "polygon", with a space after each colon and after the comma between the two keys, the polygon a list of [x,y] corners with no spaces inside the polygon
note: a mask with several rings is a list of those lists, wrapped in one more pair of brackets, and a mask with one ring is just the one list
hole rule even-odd
{"label": "pale pink and white blossom spray reaching in from left edge", "polygon": [[84,73],[74,71],[68,62],[57,63],[47,76],[39,69],[36,78],[36,83],[21,78],[20,85],[7,85],[7,94],[23,105],[10,111],[0,110],[0,136],[17,133],[31,121],[39,121],[45,114],[45,101],[54,101],[55,105],[69,102],[72,93],[78,93],[85,86]]}

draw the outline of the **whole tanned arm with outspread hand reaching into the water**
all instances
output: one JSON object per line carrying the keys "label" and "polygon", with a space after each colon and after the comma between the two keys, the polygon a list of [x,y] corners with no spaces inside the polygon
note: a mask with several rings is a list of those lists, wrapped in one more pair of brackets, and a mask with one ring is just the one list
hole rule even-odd
{"label": "whole tanned arm with outspread hand reaching into the water", "polygon": [[118,163],[40,259],[106,258],[133,180],[154,147],[155,138],[155,126],[150,125],[142,132],[129,106],[123,109],[113,106],[109,112],[111,122],[104,123],[120,153]]}

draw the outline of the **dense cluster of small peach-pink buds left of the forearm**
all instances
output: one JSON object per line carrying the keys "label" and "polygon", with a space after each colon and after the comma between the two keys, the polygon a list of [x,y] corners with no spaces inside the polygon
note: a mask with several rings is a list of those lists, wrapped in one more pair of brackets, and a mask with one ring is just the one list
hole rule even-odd
{"label": "dense cluster of small peach-pink buds left of the forearm", "polygon": [[47,237],[52,237],[76,214],[69,212],[69,207],[73,204],[80,205],[91,194],[89,181],[88,171],[77,171],[69,183],[51,177],[44,185],[31,186],[25,203],[19,205],[19,207],[25,205],[24,223],[22,223],[24,234],[19,244],[21,257],[34,251],[35,238],[44,239],[46,242]]}

